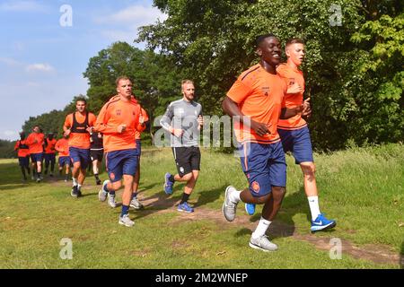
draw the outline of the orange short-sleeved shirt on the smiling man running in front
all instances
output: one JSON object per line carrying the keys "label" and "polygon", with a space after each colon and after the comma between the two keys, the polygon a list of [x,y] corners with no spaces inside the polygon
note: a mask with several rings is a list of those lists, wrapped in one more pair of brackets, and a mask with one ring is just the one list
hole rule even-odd
{"label": "orange short-sleeved shirt on the smiling man running in front", "polygon": [[253,65],[244,71],[227,97],[236,102],[242,114],[256,122],[268,126],[270,134],[260,136],[250,127],[244,127],[235,120],[234,132],[239,142],[277,143],[277,122],[281,109],[285,106],[284,96],[287,91],[285,81],[277,74],[270,74],[261,65]]}

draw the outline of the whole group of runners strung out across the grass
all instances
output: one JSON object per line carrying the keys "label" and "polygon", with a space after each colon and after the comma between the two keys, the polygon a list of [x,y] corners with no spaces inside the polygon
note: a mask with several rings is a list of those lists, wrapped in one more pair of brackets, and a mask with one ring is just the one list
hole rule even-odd
{"label": "whole group of runners strung out across the grass", "polygon": [[[233,120],[233,130],[239,143],[242,170],[249,182],[249,187],[243,190],[232,186],[226,188],[222,210],[224,218],[233,222],[240,202],[245,204],[250,215],[256,212],[256,204],[263,204],[258,226],[250,237],[250,247],[274,251],[277,245],[269,241],[267,231],[285,197],[285,152],[292,152],[295,163],[303,171],[304,190],[312,214],[311,230],[328,230],[335,227],[336,222],[327,219],[319,207],[311,137],[303,118],[311,114],[310,99],[303,100],[304,78],[299,69],[305,54],[303,40],[290,39],[286,42],[287,62],[284,64],[281,64],[280,41],[272,34],[259,36],[257,54],[259,64],[251,66],[238,77],[222,102],[224,112],[238,118]],[[128,216],[129,208],[139,210],[144,207],[137,194],[140,135],[145,130],[148,116],[133,95],[129,78],[119,77],[116,86],[117,95],[102,107],[98,117],[87,111],[85,100],[76,100],[76,111],[66,117],[62,139],[56,141],[53,135],[45,139],[39,126],[36,126],[26,139],[22,135],[16,148],[24,178],[25,170],[30,173],[26,165],[26,154],[30,153],[38,181],[41,180],[43,146],[45,159],[48,158],[51,165],[51,175],[55,151],[59,152],[59,169],[66,167],[67,175],[72,165],[71,196],[74,197],[82,196],[85,171],[90,161],[96,183],[101,184],[98,172],[102,152],[105,152],[109,179],[102,183],[99,200],[107,201],[110,207],[117,207],[116,192],[123,185],[119,224],[131,227],[134,222]],[[163,187],[164,192],[171,195],[175,182],[184,182],[177,209],[192,213],[194,209],[189,204],[189,196],[199,176],[201,153],[198,142],[204,117],[202,106],[195,101],[194,83],[182,81],[181,92],[182,98],[170,103],[160,122],[170,135],[177,167],[176,172],[164,175]]]}

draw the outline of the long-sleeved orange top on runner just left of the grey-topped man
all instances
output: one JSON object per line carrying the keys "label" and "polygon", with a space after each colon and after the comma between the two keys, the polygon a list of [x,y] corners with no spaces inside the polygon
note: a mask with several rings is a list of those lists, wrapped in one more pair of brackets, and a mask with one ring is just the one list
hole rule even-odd
{"label": "long-sleeved orange top on runner just left of the grey-topped man", "polygon": [[[145,126],[139,124],[140,109],[134,97],[126,101],[121,100],[119,95],[102,107],[95,130],[103,134],[105,152],[136,148],[136,131],[145,130]],[[123,133],[118,132],[120,125],[127,125]]]}

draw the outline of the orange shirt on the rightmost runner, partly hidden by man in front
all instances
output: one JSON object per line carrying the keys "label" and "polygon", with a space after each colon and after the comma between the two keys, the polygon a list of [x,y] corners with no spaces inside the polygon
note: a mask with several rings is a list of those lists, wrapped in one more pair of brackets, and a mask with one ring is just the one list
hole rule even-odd
{"label": "orange shirt on the rightmost runner, partly hidden by man in front", "polygon": [[[304,84],[305,84],[303,78],[303,72],[297,68],[294,69],[290,65],[281,64],[277,66],[277,74],[279,74],[284,79],[288,88],[292,86],[294,83],[298,83],[301,87],[303,87],[302,92],[286,93],[285,107],[288,109],[293,109],[295,107],[302,105]],[[279,119],[279,123],[277,124],[278,128],[287,130],[299,129],[302,128],[303,126],[307,126],[307,123],[300,114],[287,119]]]}

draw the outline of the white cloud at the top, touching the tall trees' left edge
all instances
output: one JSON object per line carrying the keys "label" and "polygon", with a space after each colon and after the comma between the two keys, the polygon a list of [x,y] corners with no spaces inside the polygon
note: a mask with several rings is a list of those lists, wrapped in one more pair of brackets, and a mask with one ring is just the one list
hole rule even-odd
{"label": "white cloud at the top, touching the tall trees' left edge", "polygon": [[155,7],[145,7],[141,5],[132,5],[107,16],[97,17],[96,23],[110,23],[110,24],[136,24],[136,26],[142,26],[146,24],[152,24],[160,19],[164,21],[167,19],[167,15],[162,13]]}

